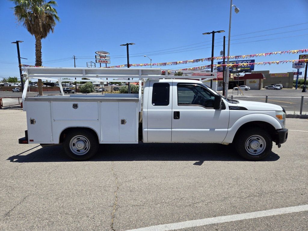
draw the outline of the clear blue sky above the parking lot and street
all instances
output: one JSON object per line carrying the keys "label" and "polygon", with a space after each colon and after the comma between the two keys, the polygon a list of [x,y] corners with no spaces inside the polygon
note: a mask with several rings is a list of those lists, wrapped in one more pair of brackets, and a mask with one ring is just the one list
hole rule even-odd
{"label": "clear blue sky above the parking lot and street", "polygon": [[[70,59],[73,55],[77,57],[78,67],[86,67],[87,61],[95,61],[95,51],[98,50],[110,53],[112,66],[125,64],[126,49],[119,46],[123,43],[136,43],[130,46],[130,63],[148,63],[149,59],[143,55],[151,57],[153,63],[207,58],[211,56],[212,37],[202,33],[225,30],[225,33],[215,34],[214,56],[219,56],[222,37],[228,36],[229,0],[57,2],[61,22],[55,27],[53,34],[42,40],[43,66],[46,67],[74,67],[74,61]],[[233,10],[232,13],[230,55],[308,48],[307,0],[233,0],[233,4],[240,12],[235,14]],[[35,60],[34,37],[17,24],[13,10],[10,9],[13,6],[8,0],[0,1],[0,76],[4,77],[19,75],[16,45],[11,42],[24,41],[20,44],[21,57],[28,60],[22,60],[22,63],[34,65]],[[295,24],[301,25],[290,26]],[[285,28],[270,30],[278,27]],[[267,31],[251,33],[261,30]],[[256,40],[265,41],[253,42]],[[255,58],[256,62],[290,59],[298,59],[298,55]],[[180,69],[207,64],[210,63],[189,63],[161,68]],[[292,64],[255,66],[255,70],[286,72],[292,70]]]}

